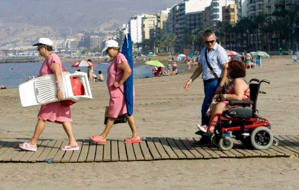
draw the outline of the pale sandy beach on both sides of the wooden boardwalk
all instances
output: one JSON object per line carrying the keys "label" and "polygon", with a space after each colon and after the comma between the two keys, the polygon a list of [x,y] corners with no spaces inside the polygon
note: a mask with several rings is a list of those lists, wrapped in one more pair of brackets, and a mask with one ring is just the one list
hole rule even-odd
{"label": "pale sandy beach on both sides of the wooden boardwalk", "polygon": [[[166,66],[166,64],[164,64]],[[185,63],[178,64],[186,68]],[[134,79],[135,120],[141,137],[196,135],[204,98],[202,79],[189,91],[183,84],[197,66],[177,76]],[[299,64],[291,56],[271,56],[246,79],[267,79],[257,102],[259,115],[274,135],[299,135]],[[106,83],[91,84],[93,100],[71,106],[78,139],[104,129],[109,94]],[[0,140],[27,141],[33,135],[39,106],[23,108],[19,89],[0,91]],[[113,126],[108,138],[128,138],[128,124]],[[67,139],[61,125],[47,123],[43,139]],[[299,189],[299,158],[192,159],[142,162],[0,163],[2,189]]]}

